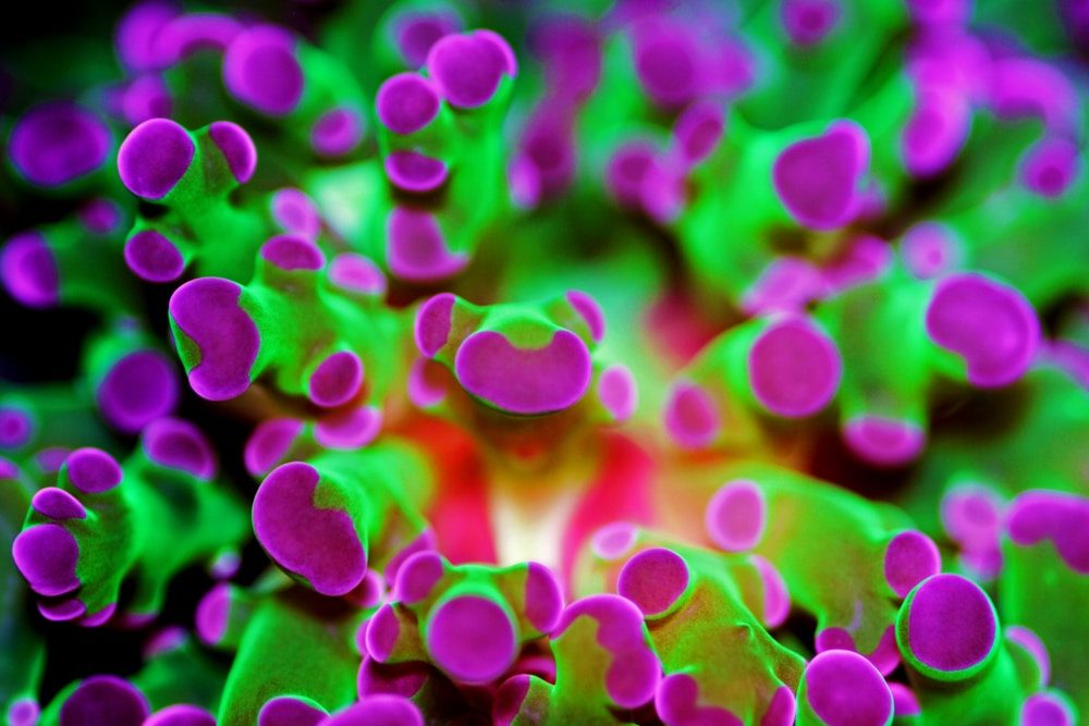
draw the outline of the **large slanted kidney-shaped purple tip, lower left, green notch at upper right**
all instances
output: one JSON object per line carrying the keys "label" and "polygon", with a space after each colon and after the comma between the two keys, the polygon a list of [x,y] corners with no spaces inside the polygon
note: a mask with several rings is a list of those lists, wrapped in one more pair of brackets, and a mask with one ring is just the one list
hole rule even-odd
{"label": "large slanted kidney-shaped purple tip, lower left, green notch at upper right", "polygon": [[254,497],[257,541],[281,567],[325,595],[343,595],[367,574],[367,555],[347,513],[318,508],[321,477],[308,464],[284,464]]}

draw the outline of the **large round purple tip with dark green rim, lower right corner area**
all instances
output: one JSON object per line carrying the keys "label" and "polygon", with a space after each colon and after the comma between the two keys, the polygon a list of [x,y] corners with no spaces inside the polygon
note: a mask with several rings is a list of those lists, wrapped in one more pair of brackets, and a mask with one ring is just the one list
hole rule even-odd
{"label": "large round purple tip with dark green rim, lower right corner area", "polygon": [[934,575],[901,607],[896,639],[904,657],[928,674],[967,677],[998,648],[998,616],[979,586],[959,575]]}

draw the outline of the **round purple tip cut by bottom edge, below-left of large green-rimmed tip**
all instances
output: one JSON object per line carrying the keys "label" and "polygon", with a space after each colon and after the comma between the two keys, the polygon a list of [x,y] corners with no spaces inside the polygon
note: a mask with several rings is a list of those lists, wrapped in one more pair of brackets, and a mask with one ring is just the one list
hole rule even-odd
{"label": "round purple tip cut by bottom edge, below-left of large green-rimmed tip", "polygon": [[802,679],[806,703],[828,726],[892,723],[892,691],[873,664],[858,653],[820,653],[806,666]]}

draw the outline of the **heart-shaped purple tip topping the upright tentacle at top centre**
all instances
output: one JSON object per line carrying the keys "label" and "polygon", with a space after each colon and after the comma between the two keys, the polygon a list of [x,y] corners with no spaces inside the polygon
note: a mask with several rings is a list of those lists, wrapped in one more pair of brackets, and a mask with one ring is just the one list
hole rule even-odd
{"label": "heart-shaped purple tip topping the upright tentacle at top centre", "polygon": [[504,74],[511,74],[511,56],[499,36],[448,35],[427,54],[427,70],[439,93],[451,106],[475,109],[491,100]]}

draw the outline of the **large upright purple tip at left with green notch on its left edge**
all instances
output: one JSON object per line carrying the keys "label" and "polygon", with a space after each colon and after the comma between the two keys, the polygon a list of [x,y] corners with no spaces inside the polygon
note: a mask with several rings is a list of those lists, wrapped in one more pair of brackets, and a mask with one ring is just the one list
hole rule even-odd
{"label": "large upright purple tip at left with green notch on its left edge", "polygon": [[209,401],[225,401],[249,387],[249,371],[260,348],[260,333],[240,306],[242,287],[230,280],[187,282],[170,298],[170,317],[196,347],[182,361],[189,385]]}

